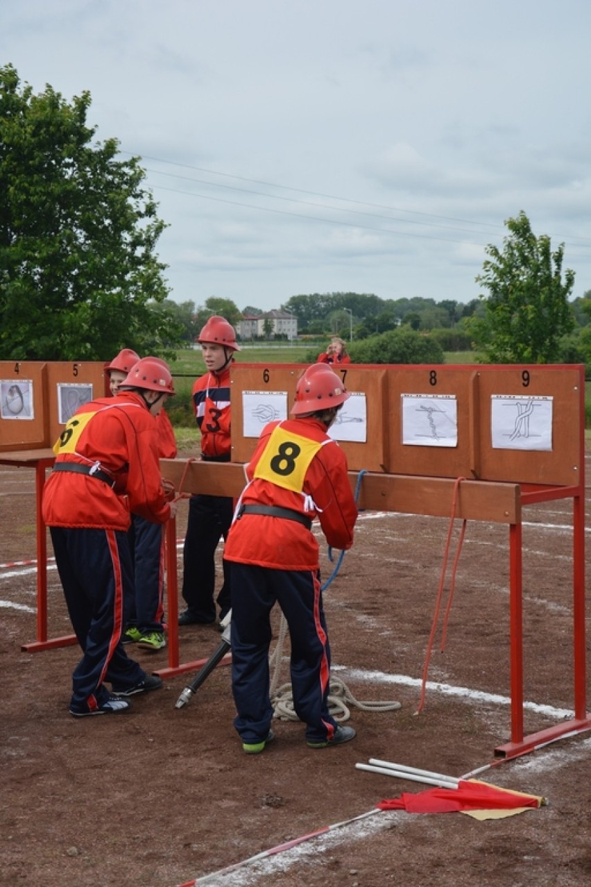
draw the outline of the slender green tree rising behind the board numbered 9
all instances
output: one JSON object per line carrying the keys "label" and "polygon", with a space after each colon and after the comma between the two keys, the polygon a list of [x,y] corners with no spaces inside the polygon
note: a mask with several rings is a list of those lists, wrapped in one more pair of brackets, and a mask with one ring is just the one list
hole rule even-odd
{"label": "slender green tree rising behind the board numbered 9", "polygon": [[574,271],[564,271],[564,244],[552,251],[548,235],[536,238],[522,211],[505,224],[509,235],[490,256],[476,278],[488,290],[485,317],[470,322],[478,346],[491,363],[556,362],[560,340],[574,326],[568,303]]}

